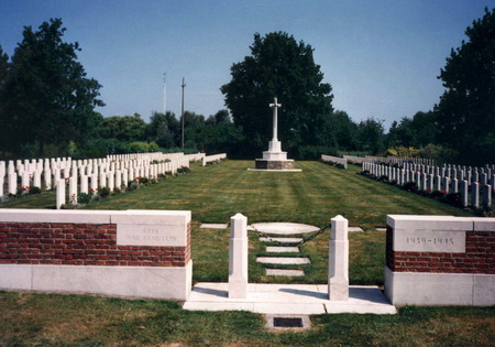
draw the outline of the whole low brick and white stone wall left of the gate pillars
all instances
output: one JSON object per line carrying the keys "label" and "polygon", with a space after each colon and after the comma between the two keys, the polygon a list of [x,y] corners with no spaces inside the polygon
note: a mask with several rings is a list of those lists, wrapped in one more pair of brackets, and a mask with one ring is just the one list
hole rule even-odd
{"label": "whole low brick and white stone wall left of the gate pillars", "polygon": [[186,300],[190,212],[0,209],[0,289]]}

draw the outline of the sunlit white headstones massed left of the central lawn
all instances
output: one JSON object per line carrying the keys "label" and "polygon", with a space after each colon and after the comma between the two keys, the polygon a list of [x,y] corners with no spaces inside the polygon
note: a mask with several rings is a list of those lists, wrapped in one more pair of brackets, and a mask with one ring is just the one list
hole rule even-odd
{"label": "sunlit white headstones massed left of the central lawn", "polygon": [[108,155],[77,161],[70,158],[18,160],[9,161],[7,165],[0,161],[0,197],[4,195],[6,178],[7,194],[16,194],[19,189],[28,193],[30,187],[52,189],[59,184],[65,186],[67,181],[70,200],[77,200],[77,193],[89,193],[89,188],[92,192],[98,187],[113,191],[127,186],[136,177],[156,178],[166,172],[175,174],[178,167],[189,167],[190,161],[205,156],[205,153],[179,152]]}

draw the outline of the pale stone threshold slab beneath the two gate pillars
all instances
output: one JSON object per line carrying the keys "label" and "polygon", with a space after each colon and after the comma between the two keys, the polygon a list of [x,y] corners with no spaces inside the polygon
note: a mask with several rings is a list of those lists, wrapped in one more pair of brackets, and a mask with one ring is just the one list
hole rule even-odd
{"label": "pale stone threshold slab beneath the two gate pillars", "polygon": [[348,301],[330,301],[328,285],[248,284],[246,299],[229,299],[229,283],[197,283],[184,310],[250,311],[260,314],[396,314],[377,286],[351,285]]}

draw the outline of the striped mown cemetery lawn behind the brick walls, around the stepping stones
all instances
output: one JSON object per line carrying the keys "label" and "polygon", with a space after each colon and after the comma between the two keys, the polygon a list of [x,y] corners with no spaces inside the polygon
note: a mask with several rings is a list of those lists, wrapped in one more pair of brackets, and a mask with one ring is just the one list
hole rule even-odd
{"label": "striped mown cemetery lawn behind the brick walls, around the stepping stones", "polygon": [[[359,167],[340,170],[319,162],[297,162],[300,173],[252,172],[252,161],[226,161],[218,165],[191,166],[182,175],[145,188],[94,202],[95,209],[190,209],[193,212],[193,259],[195,282],[228,279],[229,230],[200,229],[200,223],[227,223],[237,213],[250,224],[295,221],[327,226],[342,215],[350,226],[366,232],[350,234],[351,284],[382,284],[385,260],[384,227],[387,214],[469,215],[461,209],[404,192],[358,175]],[[0,204],[3,208],[53,208],[55,194],[24,196]],[[250,281],[326,283],[328,275],[328,230],[300,247],[300,257],[311,264],[272,265],[305,270],[305,278],[265,275],[265,245],[250,235]]]}

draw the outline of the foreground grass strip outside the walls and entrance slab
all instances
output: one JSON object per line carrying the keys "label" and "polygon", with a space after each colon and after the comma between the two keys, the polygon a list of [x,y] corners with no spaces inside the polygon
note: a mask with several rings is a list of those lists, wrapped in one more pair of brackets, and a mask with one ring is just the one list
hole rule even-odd
{"label": "foreground grass strip outside the walls and entrance slab", "polygon": [[178,303],[0,292],[0,345],[480,346],[495,340],[494,307],[403,307],[397,315],[318,315],[273,333],[248,312],[188,312]]}

